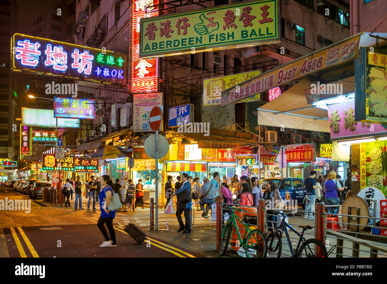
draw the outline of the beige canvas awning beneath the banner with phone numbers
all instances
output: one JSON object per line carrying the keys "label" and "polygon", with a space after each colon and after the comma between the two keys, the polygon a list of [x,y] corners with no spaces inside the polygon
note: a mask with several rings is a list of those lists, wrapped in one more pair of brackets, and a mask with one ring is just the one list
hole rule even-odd
{"label": "beige canvas awning beneath the banner with phone numbers", "polygon": [[[276,99],[264,104],[258,109],[258,124],[330,132],[327,110],[307,103],[305,90],[313,83],[317,82],[305,78]],[[331,83],[342,84],[343,94],[354,92],[353,77]]]}

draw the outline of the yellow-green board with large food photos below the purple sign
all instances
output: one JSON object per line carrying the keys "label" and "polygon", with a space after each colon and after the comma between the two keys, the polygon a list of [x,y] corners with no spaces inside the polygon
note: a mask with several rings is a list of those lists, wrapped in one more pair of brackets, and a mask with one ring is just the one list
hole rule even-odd
{"label": "yellow-green board with large food photos below the purple sign", "polygon": [[365,187],[375,187],[387,195],[387,140],[365,143]]}

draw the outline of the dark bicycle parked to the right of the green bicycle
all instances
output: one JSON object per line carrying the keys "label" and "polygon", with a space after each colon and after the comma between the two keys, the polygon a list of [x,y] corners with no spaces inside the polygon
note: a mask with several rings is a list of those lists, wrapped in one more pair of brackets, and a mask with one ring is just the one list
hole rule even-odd
{"label": "dark bicycle parked to the right of the green bicycle", "polygon": [[[300,233],[285,221],[286,217],[293,217],[293,213],[288,213],[288,215],[286,215],[282,211],[275,210],[274,212],[276,214],[281,215],[282,220],[281,223],[276,226],[274,231],[267,236],[268,247],[266,257],[281,257],[282,232],[285,233],[286,240],[288,241],[291,257],[328,257],[330,253],[327,252],[324,247],[324,244],[321,241],[317,239],[306,240],[304,237],[304,232],[306,230],[312,229],[313,226],[298,226],[298,228],[302,228],[302,232]],[[287,228],[289,228],[297,236],[300,237],[300,239],[298,240],[297,247],[295,249],[293,249],[292,247]]]}

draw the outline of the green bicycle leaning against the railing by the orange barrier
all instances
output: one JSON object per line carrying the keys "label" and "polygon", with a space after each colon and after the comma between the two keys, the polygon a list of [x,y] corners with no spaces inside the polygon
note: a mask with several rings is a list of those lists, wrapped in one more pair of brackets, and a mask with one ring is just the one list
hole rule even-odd
{"label": "green bicycle leaning against the railing by the orange barrier", "polygon": [[[230,218],[227,220],[226,226],[224,226],[223,233],[221,235],[221,242],[220,242],[220,255],[223,256],[226,253],[228,243],[230,241],[231,233],[233,231],[233,227],[236,228],[236,235],[238,236],[238,243],[231,243],[233,245],[240,245],[240,247],[243,247],[246,253],[246,257],[264,257],[266,255],[266,249],[267,249],[267,240],[264,235],[264,233],[258,229],[251,230],[249,228],[248,222],[252,219],[257,220],[256,218],[244,218],[247,222],[242,221],[238,216],[235,215],[235,211],[241,211],[241,212],[248,212],[245,210],[242,210],[241,208],[236,207],[229,207],[226,206],[224,209],[231,209],[232,214]],[[241,237],[241,234],[239,232],[238,224],[236,223],[236,220],[240,221],[243,226],[245,226],[245,234],[243,235],[243,238]]]}

